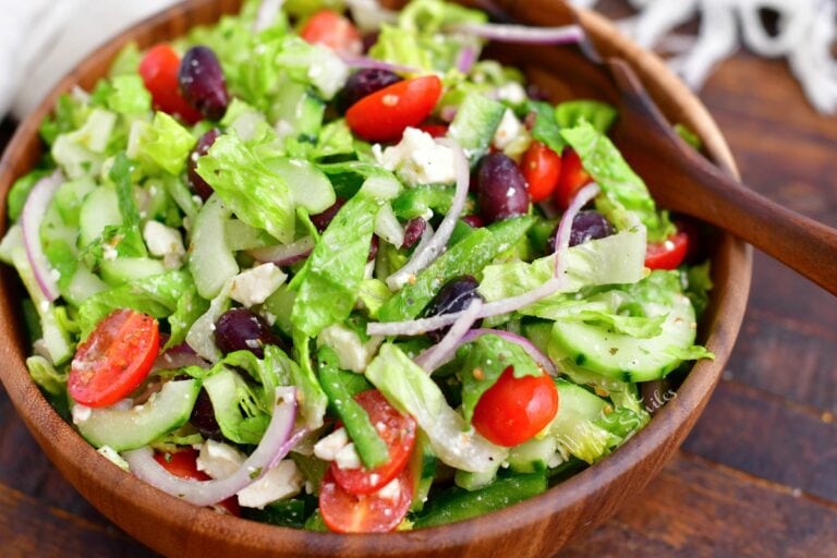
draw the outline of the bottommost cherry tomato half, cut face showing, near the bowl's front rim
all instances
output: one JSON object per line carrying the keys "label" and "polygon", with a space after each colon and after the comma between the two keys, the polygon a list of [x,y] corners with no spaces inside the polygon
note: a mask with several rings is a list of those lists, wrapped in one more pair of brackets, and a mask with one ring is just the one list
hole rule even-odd
{"label": "bottommost cherry tomato half, cut face showing, near the bowl's front rim", "polygon": [[[356,496],[345,492],[331,470],[319,486],[319,512],[328,529],[337,533],[387,533],[403,521],[413,499],[410,470],[404,469],[393,481],[397,489]],[[390,490],[386,490],[390,492]]]}

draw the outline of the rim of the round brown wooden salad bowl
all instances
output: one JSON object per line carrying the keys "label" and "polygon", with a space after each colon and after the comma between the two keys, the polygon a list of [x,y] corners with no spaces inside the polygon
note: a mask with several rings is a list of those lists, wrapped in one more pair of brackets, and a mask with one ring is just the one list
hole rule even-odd
{"label": "rim of the round brown wooden salad bowl", "polygon": [[[44,102],[17,129],[0,160],[0,192],[5,195],[16,177],[11,175],[15,157],[26,150],[27,142],[37,134],[40,122],[51,110],[58,96],[70,90],[81,76],[93,69],[94,61],[101,57],[112,56],[117,49],[129,40],[150,36],[154,29],[157,35],[167,32],[165,22],[183,16],[190,11],[215,3],[223,4],[222,0],[190,0],[161,14],[149,17],[124,31],[99,47],[72,72],[70,72],[46,97]],[[232,2],[234,3],[234,2]],[[703,105],[698,98],[668,70],[656,56],[642,50],[629,39],[621,36],[616,27],[603,16],[579,10],[581,22],[592,34],[607,37],[618,50],[626,53],[634,68],[653,74],[662,88],[683,107],[692,119],[693,130],[701,136],[711,156],[728,170],[737,174],[735,161],[729,148]],[[185,29],[178,29],[182,34]],[[5,207],[0,209],[0,225],[3,229]],[[441,551],[450,548],[466,546],[474,537],[509,536],[541,522],[545,515],[551,515],[571,509],[579,501],[593,498],[612,483],[619,482],[636,463],[653,460],[655,452],[664,447],[667,440],[686,436],[682,430],[691,428],[700,411],[705,405],[714,390],[729,354],[735,338],[740,328],[747,293],[750,284],[752,257],[751,250],[740,241],[724,235],[719,242],[719,254],[728,259],[729,274],[723,284],[716,286],[713,295],[718,307],[718,314],[711,324],[712,331],[707,345],[716,352],[716,361],[701,361],[688,375],[677,392],[677,398],[666,404],[654,420],[632,439],[626,442],[611,456],[585,471],[550,488],[545,494],[525,500],[521,504],[499,510],[488,515],[472,520],[420,530],[383,535],[338,535],[333,533],[313,533],[288,527],[278,527],[236,518],[223,517],[209,509],[196,508],[187,502],[166,495],[130,473],[109,464],[101,458],[73,428],[65,423],[41,396],[37,386],[32,381],[16,340],[11,335],[14,326],[3,325],[3,338],[0,341],[0,354],[7,366],[0,367],[2,379],[9,395],[17,408],[17,412],[35,435],[37,441],[47,451],[50,459],[68,476],[71,483],[88,499],[96,492],[108,494],[107,506],[102,511],[114,522],[129,530],[132,534],[149,546],[166,551],[166,543],[149,539],[147,534],[140,534],[125,520],[124,511],[136,509],[156,517],[167,529],[181,533],[199,532],[185,536],[187,539],[199,536],[203,544],[240,545],[242,549],[253,549],[265,553],[288,551],[290,555],[306,554],[328,555],[343,550],[342,556],[401,556],[423,551]],[[2,284],[7,294],[1,301],[5,315],[9,315],[10,304],[8,282]],[[662,466],[662,462],[656,469]],[[97,507],[102,506],[96,501]],[[166,511],[161,513],[159,510]],[[612,510],[610,510],[612,511]],[[608,512],[609,513],[609,512]],[[144,536],[145,535],[145,536]],[[350,542],[347,542],[350,538]],[[195,541],[192,541],[195,543]],[[349,546],[348,546],[349,545]],[[185,546],[184,546],[185,548]]]}

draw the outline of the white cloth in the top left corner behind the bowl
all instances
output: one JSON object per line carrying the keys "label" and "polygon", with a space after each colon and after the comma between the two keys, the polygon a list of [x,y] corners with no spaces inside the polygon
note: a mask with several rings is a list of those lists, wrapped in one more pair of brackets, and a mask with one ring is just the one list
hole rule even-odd
{"label": "white cloth in the top left corner behind the bowl", "polygon": [[94,48],[177,0],[0,0],[0,118],[28,114]]}

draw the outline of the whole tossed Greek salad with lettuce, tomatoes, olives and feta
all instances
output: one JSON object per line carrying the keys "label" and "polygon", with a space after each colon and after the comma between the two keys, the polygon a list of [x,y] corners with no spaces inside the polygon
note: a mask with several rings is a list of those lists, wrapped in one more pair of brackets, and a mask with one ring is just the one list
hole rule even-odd
{"label": "whole tossed Greek salad with lettuce, tomatoes, olives and feta", "polygon": [[483,56],[581,29],[281,4],[129,46],[43,123],[0,244],[33,379],[157,488],[310,530],[464,520],[615,451],[712,357],[711,281],[612,107]]}

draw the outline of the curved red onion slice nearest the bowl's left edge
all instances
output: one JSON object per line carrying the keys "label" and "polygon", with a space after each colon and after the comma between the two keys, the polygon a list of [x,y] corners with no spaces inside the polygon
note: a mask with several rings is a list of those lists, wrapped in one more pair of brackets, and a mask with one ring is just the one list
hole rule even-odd
{"label": "curved red onion slice nearest the bowl's left edge", "polygon": [[53,302],[60,293],[56,270],[53,270],[44,247],[40,244],[40,223],[49,208],[52,197],[59,186],[64,183],[64,177],[60,170],[56,170],[49,177],[40,179],[29,192],[21,213],[21,229],[23,230],[23,245],[26,248],[26,257],[32,266],[35,280],[40,287],[44,296]]}

